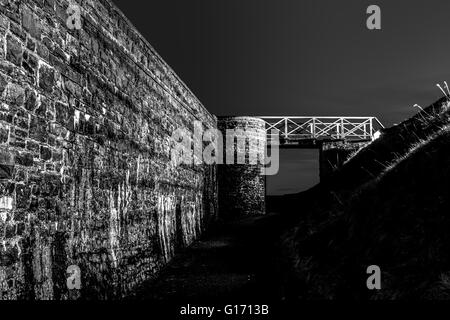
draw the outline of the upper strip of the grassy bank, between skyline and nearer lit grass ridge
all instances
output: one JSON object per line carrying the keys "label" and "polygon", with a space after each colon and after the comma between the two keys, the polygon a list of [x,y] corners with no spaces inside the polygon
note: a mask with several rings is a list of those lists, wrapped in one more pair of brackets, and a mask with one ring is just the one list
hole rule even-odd
{"label": "upper strip of the grassy bank, between skyline and nearer lit grass ridge", "polygon": [[302,211],[308,212],[307,218],[312,220],[308,222],[317,224],[324,221],[335,211],[331,208],[345,208],[357,188],[379,176],[388,166],[405,157],[411,148],[429,139],[448,123],[450,110],[446,99],[441,99],[414,117],[385,129],[381,138],[354,155],[327,181],[300,194],[271,199],[274,202],[272,207],[298,216],[298,212],[291,208],[301,203]]}

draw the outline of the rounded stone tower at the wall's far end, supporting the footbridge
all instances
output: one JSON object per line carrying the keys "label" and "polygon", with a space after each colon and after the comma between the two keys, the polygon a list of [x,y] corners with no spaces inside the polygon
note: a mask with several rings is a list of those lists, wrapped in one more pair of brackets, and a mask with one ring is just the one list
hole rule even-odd
{"label": "rounded stone tower at the wall's far end, supporting the footbridge", "polygon": [[[235,219],[248,215],[262,215],[266,213],[266,177],[261,175],[262,162],[250,164],[250,150],[261,155],[264,159],[266,130],[265,122],[252,117],[221,117],[218,127],[226,139],[227,130],[245,131],[244,135],[237,135],[234,139],[235,161],[233,164],[219,165],[219,216],[222,219]],[[238,139],[245,141],[239,143]],[[244,139],[244,140],[242,140]],[[224,143],[225,154],[229,152]],[[236,154],[239,151],[245,156],[245,164],[238,164]]]}

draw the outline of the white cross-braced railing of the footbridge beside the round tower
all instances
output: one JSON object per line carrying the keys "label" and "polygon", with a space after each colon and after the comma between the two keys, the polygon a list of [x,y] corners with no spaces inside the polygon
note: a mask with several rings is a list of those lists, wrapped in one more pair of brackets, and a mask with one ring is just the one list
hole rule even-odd
{"label": "white cross-braced railing of the footbridge beside the round tower", "polygon": [[373,140],[384,128],[376,117],[259,117],[266,122],[268,138],[275,130],[290,141],[307,139]]}

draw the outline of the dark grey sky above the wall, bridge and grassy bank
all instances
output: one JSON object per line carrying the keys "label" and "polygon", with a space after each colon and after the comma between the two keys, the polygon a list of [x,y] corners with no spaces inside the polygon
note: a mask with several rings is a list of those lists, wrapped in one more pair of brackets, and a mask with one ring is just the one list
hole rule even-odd
{"label": "dark grey sky above the wall, bridge and grassy bank", "polygon": [[[391,125],[450,80],[448,0],[114,2],[216,115],[377,116]],[[371,4],[381,7],[381,31],[366,28]],[[309,163],[310,153],[298,167]],[[303,187],[313,180],[302,170]]]}

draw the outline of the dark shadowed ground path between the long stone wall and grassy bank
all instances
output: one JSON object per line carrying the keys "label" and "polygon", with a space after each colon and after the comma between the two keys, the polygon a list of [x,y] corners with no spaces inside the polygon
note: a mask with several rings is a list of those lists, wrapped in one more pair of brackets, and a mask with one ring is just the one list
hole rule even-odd
{"label": "dark shadowed ground path between the long stone wall and grassy bank", "polygon": [[216,227],[178,255],[138,299],[173,302],[247,303],[282,296],[275,240],[275,215]]}

